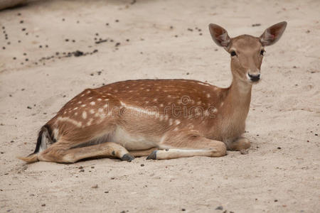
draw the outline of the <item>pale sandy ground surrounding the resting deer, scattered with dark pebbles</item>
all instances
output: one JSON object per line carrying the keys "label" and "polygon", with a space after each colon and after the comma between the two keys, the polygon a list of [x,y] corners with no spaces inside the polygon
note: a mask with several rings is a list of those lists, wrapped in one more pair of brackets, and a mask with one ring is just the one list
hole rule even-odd
{"label": "pale sandy ground surrounding the resting deer, scattered with dark pebbles", "polygon": [[[319,1],[183,0],[35,1],[0,11],[0,212],[320,212],[319,11]],[[208,23],[235,36],[260,35],[279,21],[287,30],[267,48],[253,88],[248,155],[16,159],[87,87],[140,78],[227,87],[230,58]]]}

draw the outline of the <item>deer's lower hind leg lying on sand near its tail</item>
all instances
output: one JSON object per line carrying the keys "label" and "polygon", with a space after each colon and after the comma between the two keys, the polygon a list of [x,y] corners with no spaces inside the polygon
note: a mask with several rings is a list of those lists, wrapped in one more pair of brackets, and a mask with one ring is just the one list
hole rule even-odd
{"label": "deer's lower hind leg lying on sand near its tail", "polygon": [[75,163],[81,159],[94,157],[117,157],[127,161],[134,159],[126,148],[113,142],[68,149],[59,148],[59,146],[51,146],[38,155],[39,160],[57,163]]}

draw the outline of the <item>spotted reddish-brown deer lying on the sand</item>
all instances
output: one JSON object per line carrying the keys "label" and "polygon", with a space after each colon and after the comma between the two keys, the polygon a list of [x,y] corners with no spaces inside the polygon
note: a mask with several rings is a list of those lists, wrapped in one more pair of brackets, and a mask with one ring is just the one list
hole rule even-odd
{"label": "spotted reddish-brown deer lying on the sand", "polygon": [[242,133],[252,84],[261,79],[265,46],[277,42],[286,26],[277,23],[260,37],[230,38],[210,23],[214,42],[231,56],[230,87],[196,80],[127,80],[85,89],[41,128],[34,153],[20,159],[74,163],[95,157],[219,157],[227,149],[250,148]]}

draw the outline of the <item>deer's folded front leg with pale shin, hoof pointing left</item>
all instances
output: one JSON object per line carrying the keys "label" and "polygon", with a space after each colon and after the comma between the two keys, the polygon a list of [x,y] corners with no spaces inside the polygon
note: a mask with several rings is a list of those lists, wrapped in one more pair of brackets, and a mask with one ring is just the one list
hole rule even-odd
{"label": "deer's folded front leg with pale shin, hoof pointing left", "polygon": [[201,136],[183,139],[182,143],[181,141],[180,143],[162,143],[159,148],[164,148],[164,150],[153,151],[146,159],[166,160],[193,156],[220,157],[226,155],[227,148],[222,141],[214,141]]}

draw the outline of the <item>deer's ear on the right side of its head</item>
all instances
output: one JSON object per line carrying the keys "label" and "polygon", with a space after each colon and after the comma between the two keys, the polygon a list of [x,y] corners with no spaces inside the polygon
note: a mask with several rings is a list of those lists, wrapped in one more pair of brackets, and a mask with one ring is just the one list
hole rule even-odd
{"label": "deer's ear on the right side of its head", "polygon": [[280,23],[276,23],[270,28],[267,28],[265,32],[260,35],[260,41],[263,46],[273,45],[274,43],[281,38],[282,33],[286,29],[287,22],[282,21]]}

